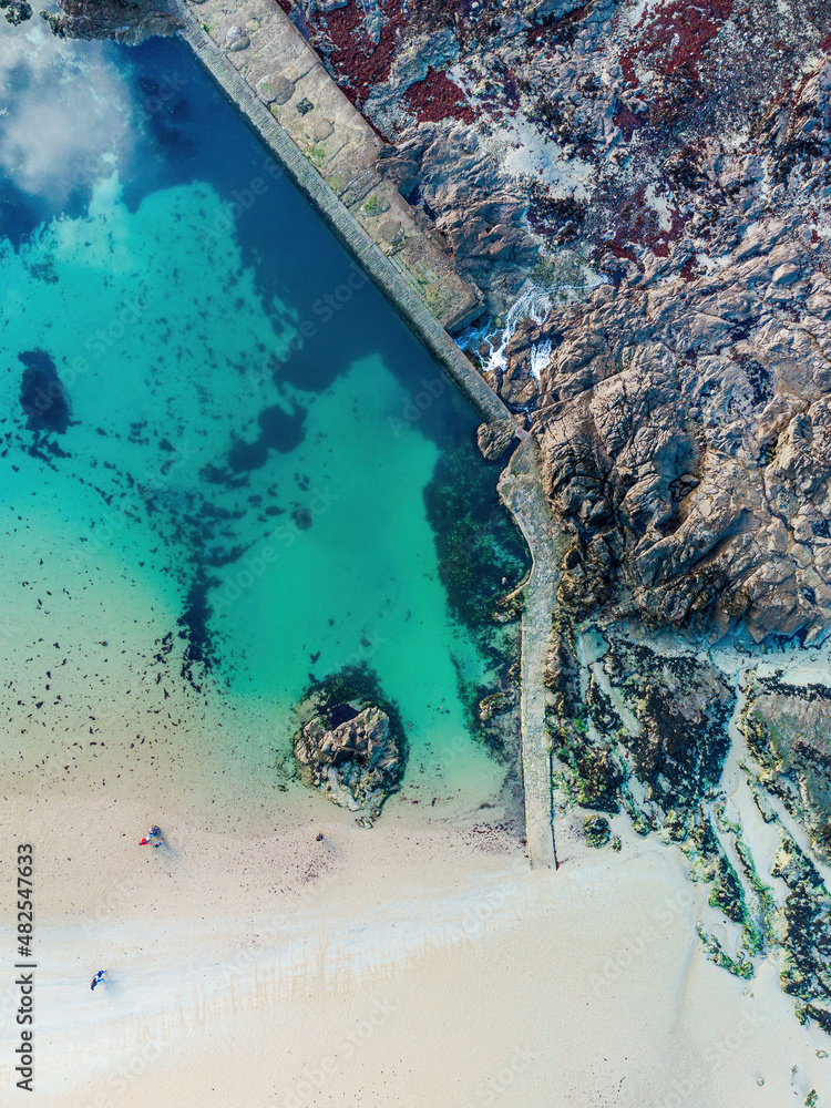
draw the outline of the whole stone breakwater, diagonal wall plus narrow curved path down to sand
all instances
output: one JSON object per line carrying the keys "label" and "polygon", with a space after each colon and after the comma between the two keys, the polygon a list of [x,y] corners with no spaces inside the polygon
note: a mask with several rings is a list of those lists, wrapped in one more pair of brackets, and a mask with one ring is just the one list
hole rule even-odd
{"label": "whole stone breakwater, diagonal wall plus narrow curved path down to sand", "polygon": [[555,868],[543,677],[556,551],[536,441],[449,334],[478,314],[479,301],[453,269],[452,259],[417,225],[398,189],[377,172],[380,142],[375,132],[274,0],[255,0],[244,22],[232,0],[194,0],[193,7],[184,0],[174,3],[184,24],[182,34],[222,91],[490,424],[494,441],[523,440],[503,476],[501,493],[534,558],[523,589],[522,628],[526,842],[532,864]]}

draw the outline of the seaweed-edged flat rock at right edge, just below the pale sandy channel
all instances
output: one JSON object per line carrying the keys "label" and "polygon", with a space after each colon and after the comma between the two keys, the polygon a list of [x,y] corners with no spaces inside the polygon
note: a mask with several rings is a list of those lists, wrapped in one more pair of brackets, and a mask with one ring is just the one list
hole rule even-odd
{"label": "seaweed-edged flat rock at right edge, just below the pale sandy channel", "polygon": [[761,783],[806,825],[811,845],[831,861],[831,688],[753,683],[742,714]]}

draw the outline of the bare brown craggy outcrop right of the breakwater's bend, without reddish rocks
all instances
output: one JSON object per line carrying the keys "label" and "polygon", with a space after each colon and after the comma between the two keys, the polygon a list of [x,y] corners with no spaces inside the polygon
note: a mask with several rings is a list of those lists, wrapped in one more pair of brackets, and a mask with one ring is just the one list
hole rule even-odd
{"label": "bare brown craggy outcrop right of the breakwater's bend, without reddish rocks", "polygon": [[513,338],[501,388],[540,437],[577,609],[757,640],[831,622],[830,88],[823,61],[759,154],[698,158],[665,256]]}

